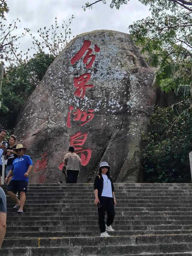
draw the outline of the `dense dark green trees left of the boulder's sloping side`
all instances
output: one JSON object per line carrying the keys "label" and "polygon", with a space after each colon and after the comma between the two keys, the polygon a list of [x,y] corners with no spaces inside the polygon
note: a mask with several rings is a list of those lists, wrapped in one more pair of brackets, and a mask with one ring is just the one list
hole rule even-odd
{"label": "dense dark green trees left of the boulder's sloping side", "polygon": [[[9,66],[6,78],[2,83],[2,103],[0,119],[6,128],[12,128],[16,117],[26,100],[42,80],[47,68],[55,59],[54,56],[39,52],[34,54],[32,59],[22,62],[19,65]],[[4,111],[5,110],[5,111]]]}

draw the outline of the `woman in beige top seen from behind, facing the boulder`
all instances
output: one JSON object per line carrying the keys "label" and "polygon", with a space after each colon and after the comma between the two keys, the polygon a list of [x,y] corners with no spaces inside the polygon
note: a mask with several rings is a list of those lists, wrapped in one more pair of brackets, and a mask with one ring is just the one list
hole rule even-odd
{"label": "woman in beige top seen from behind, facing the boulder", "polygon": [[63,159],[63,164],[66,166],[66,183],[77,183],[79,176],[81,159],[74,151],[74,147],[70,146],[68,149],[69,153],[67,153]]}

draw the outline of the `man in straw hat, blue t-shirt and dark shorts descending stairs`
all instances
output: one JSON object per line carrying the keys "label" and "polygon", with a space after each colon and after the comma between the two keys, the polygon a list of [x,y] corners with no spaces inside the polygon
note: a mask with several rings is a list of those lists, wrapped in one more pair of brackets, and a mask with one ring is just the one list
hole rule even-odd
{"label": "man in straw hat, blue t-shirt and dark shorts descending stairs", "polygon": [[[18,213],[23,212],[23,206],[26,201],[29,173],[33,167],[33,162],[29,155],[24,155],[26,150],[27,148],[23,147],[22,144],[17,144],[16,148],[13,149],[13,151],[16,152],[16,155],[18,155],[18,158],[13,161],[11,170],[5,178],[5,182],[7,182],[8,178],[13,175],[13,178],[7,185],[7,194],[16,202],[16,206],[13,208],[19,208],[17,211]],[[20,201],[16,197],[17,192],[20,193]]]}

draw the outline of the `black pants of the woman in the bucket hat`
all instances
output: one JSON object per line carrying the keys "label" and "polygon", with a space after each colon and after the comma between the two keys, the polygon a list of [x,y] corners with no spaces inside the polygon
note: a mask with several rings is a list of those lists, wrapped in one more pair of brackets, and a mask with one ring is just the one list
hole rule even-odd
{"label": "black pants of the woman in the bucket hat", "polygon": [[105,232],[105,212],[107,212],[107,226],[113,223],[115,217],[114,199],[113,197],[100,197],[101,207],[98,208],[99,228],[101,233]]}

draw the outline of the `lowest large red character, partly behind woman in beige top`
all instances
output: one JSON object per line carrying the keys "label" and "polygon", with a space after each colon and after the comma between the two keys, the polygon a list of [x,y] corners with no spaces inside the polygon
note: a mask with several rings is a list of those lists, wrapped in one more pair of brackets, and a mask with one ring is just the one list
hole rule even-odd
{"label": "lowest large red character, partly behind woman in beige top", "polygon": [[[85,143],[87,138],[87,133],[81,134],[79,131],[78,133],[70,136],[70,146],[73,146],[75,149],[75,153],[80,153],[81,155],[81,164],[87,165],[90,158],[91,158],[91,149],[83,149],[81,146]],[[86,155],[84,153],[86,152]]]}

